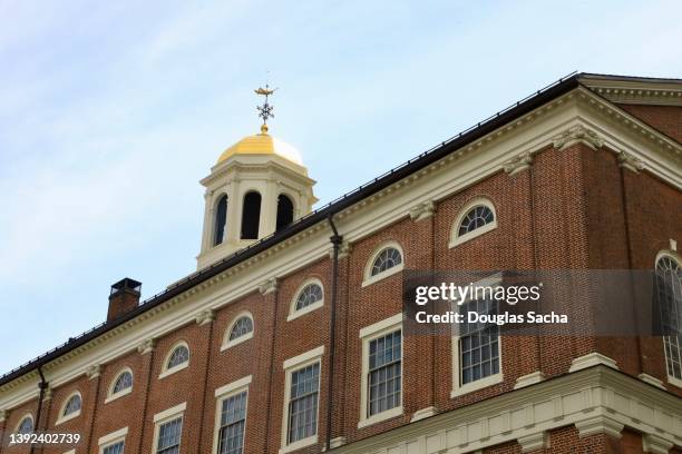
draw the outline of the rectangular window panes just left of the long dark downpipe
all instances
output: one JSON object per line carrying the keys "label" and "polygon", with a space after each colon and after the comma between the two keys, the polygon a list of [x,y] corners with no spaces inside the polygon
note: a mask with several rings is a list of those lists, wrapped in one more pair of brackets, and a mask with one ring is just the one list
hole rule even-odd
{"label": "rectangular window panes just left of the long dark downpipe", "polygon": [[320,363],[291,373],[288,443],[318,434],[318,394]]}

